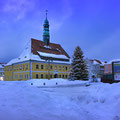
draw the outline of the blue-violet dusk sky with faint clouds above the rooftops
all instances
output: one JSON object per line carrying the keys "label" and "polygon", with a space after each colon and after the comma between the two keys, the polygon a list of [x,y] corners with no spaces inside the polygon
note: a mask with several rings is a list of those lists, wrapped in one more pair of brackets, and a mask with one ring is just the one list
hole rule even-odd
{"label": "blue-violet dusk sky with faint clouds above the rooftops", "polygon": [[50,41],[70,56],[79,45],[87,58],[120,58],[120,0],[0,0],[0,62],[42,40],[46,9]]}

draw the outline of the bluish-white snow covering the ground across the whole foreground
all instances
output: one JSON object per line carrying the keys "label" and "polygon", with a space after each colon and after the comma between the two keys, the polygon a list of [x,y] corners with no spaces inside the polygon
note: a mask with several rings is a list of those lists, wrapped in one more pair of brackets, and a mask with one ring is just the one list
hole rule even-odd
{"label": "bluish-white snow covering the ground across the whole foreground", "polygon": [[[46,88],[30,84],[39,81],[44,82],[1,81],[0,120],[120,119],[120,83],[97,82],[86,87],[82,82],[81,85],[67,86],[66,81],[66,87],[49,84]],[[56,81],[62,83],[65,80]]]}

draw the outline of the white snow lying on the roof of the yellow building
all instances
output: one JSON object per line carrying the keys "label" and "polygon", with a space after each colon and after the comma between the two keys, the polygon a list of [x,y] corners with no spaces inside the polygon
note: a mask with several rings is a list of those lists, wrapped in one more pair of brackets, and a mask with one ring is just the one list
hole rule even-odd
{"label": "white snow lying on the roof of the yellow building", "polygon": [[[28,42],[28,44],[26,45],[25,49],[23,50],[22,54],[15,59],[12,59],[10,62],[8,62],[6,64],[6,66],[8,65],[12,65],[14,63],[19,63],[19,62],[23,62],[23,61],[28,61],[28,60],[36,60],[36,61],[46,61],[44,59],[41,59],[40,56],[45,56],[45,57],[53,57],[53,58],[59,58],[59,59],[68,59],[70,60],[65,54],[53,54],[53,53],[46,53],[46,52],[41,52],[41,51],[37,51],[37,54],[34,54],[32,52],[33,47],[31,48],[31,42],[32,40],[30,40]],[[46,48],[46,46],[45,46]],[[35,49],[35,48],[34,48]],[[39,55],[38,55],[39,54]],[[58,60],[54,60],[53,62],[55,63],[67,63],[70,64],[70,61],[58,61]]]}

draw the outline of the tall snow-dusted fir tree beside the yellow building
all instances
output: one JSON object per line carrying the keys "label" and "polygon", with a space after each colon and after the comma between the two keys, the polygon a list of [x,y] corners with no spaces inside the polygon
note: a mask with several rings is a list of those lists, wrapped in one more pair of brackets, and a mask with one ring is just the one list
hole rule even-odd
{"label": "tall snow-dusted fir tree beside the yellow building", "polygon": [[84,60],[83,51],[79,46],[76,47],[72,57],[69,79],[88,80],[87,65]]}

